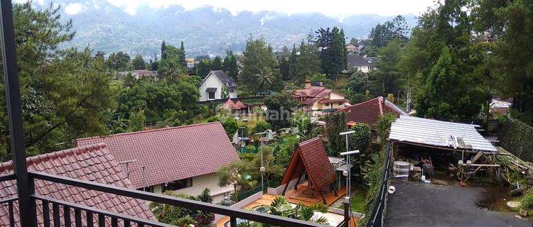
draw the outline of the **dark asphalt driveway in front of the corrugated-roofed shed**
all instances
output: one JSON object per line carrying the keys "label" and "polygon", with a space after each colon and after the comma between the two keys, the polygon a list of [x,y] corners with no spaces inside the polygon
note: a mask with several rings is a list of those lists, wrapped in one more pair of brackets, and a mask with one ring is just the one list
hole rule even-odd
{"label": "dark asphalt driveway in front of the corrugated-roofed shed", "polygon": [[384,226],[533,226],[515,214],[480,209],[486,189],[394,182]]}

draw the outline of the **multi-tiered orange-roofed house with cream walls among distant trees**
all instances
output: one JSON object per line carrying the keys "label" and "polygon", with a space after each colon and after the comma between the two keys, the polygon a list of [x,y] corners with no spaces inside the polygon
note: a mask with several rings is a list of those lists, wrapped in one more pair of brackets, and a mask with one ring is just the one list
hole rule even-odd
{"label": "multi-tiered orange-roofed house with cream walls among distant trees", "polygon": [[291,96],[300,101],[304,111],[311,111],[313,116],[323,115],[348,106],[348,100],[343,94],[327,89],[321,84],[311,85],[311,81],[306,80],[305,89],[296,89]]}

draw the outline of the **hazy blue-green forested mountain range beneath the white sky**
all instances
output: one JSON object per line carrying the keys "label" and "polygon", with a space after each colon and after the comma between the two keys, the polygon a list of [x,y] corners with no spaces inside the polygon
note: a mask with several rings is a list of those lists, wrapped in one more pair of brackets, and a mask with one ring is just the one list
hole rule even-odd
{"label": "hazy blue-green forested mountain range beneath the white sky", "polygon": [[[163,40],[177,47],[183,41],[188,57],[195,57],[223,55],[225,50],[242,52],[251,35],[255,38],[264,36],[274,50],[300,43],[308,35],[314,35],[318,28],[333,26],[344,28],[348,40],[366,38],[377,23],[394,17],[365,14],[346,16],[341,20],[321,13],[287,15],[275,11],[242,11],[232,14],[212,6],[185,10],[178,5],[159,9],[140,6],[131,15],[105,0],[52,2],[62,6],[61,20],[72,19],[76,31],[75,38],[64,47],[85,48],[90,45],[95,51],[124,51],[129,55],[140,53],[144,57],[157,55]],[[32,4],[41,8],[48,6],[50,1],[33,1]],[[410,28],[416,25],[416,16],[404,17]]]}

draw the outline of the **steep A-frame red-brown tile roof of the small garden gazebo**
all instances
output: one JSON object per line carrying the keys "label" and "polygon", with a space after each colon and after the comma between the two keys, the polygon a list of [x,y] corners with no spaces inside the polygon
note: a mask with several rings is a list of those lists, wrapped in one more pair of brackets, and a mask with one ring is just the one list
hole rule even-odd
{"label": "steep A-frame red-brown tile roof of the small garden gazebo", "polygon": [[288,184],[291,180],[302,175],[304,170],[316,191],[323,189],[337,179],[320,137],[298,144],[281,184]]}

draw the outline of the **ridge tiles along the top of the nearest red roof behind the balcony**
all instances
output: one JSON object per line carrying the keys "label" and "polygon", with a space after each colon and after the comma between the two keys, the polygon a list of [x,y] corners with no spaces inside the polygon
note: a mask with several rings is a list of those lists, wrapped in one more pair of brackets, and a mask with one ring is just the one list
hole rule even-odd
{"label": "ridge tiles along the top of the nearest red roof behind the balcony", "polygon": [[[70,155],[79,155],[82,153],[91,152],[93,150],[101,150],[103,148],[106,148],[107,145],[105,143],[95,143],[91,145],[84,145],[76,148],[70,148],[65,150],[58,150],[51,153],[44,153],[41,155],[35,155],[31,157],[26,157],[26,165],[36,164],[40,162],[45,162],[48,160],[55,159],[57,157],[66,157]],[[13,165],[13,161],[7,161],[0,163],[0,169],[6,169]]]}

